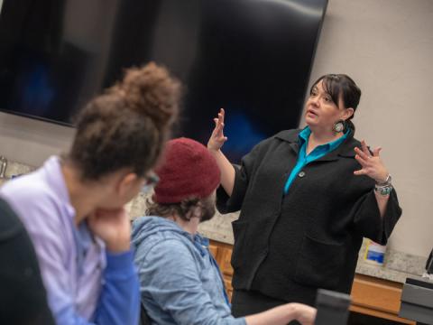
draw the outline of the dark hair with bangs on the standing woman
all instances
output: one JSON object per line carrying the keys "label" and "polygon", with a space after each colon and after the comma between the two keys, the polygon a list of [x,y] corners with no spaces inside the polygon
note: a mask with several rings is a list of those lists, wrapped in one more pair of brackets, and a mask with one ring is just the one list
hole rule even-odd
{"label": "dark hair with bangs on the standing woman", "polygon": [[313,88],[323,80],[323,88],[332,98],[332,101],[338,107],[339,98],[343,100],[345,108],[354,108],[354,115],[350,116],[346,121],[346,125],[355,131],[355,125],[350,121],[355,116],[356,107],[358,107],[359,99],[361,98],[361,89],[356,86],[355,81],[345,74],[327,74],[314,82],[309,89],[311,94]]}

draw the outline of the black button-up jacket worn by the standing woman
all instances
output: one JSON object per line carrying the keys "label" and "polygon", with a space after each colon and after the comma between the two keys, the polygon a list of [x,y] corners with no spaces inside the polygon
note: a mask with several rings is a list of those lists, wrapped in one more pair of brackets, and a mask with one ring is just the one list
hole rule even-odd
{"label": "black button-up jacket worn by the standing woman", "polygon": [[257,144],[235,168],[232,196],[217,190],[217,209],[241,209],[233,222],[234,288],[313,305],[318,288],[350,292],[363,237],[386,244],[401,208],[392,190],[381,218],[374,181],[354,175],[361,144],[353,135],[306,165],[284,196],[298,135],[282,131]]}

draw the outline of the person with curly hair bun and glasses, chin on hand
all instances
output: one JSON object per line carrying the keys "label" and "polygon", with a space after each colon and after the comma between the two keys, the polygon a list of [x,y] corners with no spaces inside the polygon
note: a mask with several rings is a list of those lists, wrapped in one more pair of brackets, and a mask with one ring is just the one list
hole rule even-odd
{"label": "person with curly hair bun and glasses, chin on hand", "polygon": [[136,324],[140,293],[124,204],[152,173],[180,82],[150,63],[89,101],[69,153],[0,190],[32,238],[58,324]]}

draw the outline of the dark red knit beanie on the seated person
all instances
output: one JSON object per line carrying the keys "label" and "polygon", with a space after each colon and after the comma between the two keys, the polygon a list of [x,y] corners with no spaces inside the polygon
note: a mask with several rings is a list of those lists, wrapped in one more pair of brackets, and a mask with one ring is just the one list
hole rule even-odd
{"label": "dark red knit beanie on the seated person", "polygon": [[188,138],[166,144],[163,162],[155,172],[160,181],[152,200],[162,204],[207,198],[217,189],[221,177],[217,161],[207,148]]}

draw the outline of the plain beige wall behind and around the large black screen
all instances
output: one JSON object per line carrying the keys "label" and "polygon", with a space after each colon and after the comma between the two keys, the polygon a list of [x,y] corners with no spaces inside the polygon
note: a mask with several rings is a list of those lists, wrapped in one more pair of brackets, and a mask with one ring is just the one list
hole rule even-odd
{"label": "plain beige wall behind and around the large black screen", "polygon": [[[3,0],[0,0],[0,5]],[[356,137],[383,147],[403,208],[394,249],[427,255],[433,246],[433,1],[329,0],[311,79],[352,76],[363,90]],[[0,154],[41,164],[65,150],[73,129],[0,114]]]}

